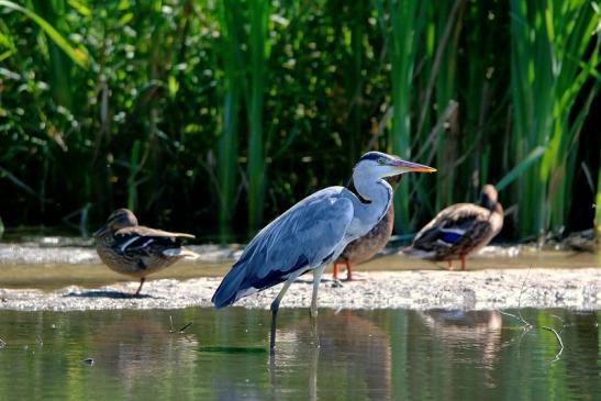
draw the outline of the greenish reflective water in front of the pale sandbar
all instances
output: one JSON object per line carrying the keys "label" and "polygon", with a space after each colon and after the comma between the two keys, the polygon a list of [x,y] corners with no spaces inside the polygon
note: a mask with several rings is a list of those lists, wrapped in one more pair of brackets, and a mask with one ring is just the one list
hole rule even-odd
{"label": "greenish reflective water in front of the pale sandbar", "polygon": [[261,310],[0,311],[0,399],[601,399],[601,312],[522,313],[560,355],[498,311],[321,310],[318,349],[282,309],[272,360]]}

